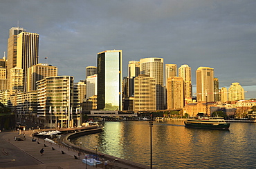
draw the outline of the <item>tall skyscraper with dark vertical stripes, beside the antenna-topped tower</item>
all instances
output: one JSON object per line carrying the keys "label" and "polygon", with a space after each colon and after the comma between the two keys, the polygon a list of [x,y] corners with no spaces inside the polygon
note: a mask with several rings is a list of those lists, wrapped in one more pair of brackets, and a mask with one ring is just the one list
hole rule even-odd
{"label": "tall skyscraper with dark vertical stripes, beside the antenna-topped tower", "polygon": [[17,35],[17,68],[24,70],[24,90],[28,86],[28,68],[38,63],[39,34],[21,32]]}

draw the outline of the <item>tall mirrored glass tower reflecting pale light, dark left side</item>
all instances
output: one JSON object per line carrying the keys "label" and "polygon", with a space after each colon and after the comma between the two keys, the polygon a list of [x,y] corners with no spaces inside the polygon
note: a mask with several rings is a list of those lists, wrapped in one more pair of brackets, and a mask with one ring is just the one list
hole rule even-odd
{"label": "tall mirrored glass tower reflecting pale light, dark left side", "polygon": [[122,50],[98,53],[98,110],[122,110]]}

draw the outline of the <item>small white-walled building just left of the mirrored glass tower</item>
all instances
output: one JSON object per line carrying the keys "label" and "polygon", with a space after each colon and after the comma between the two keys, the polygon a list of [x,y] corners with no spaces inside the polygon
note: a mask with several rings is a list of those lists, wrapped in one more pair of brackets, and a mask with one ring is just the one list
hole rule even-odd
{"label": "small white-walled building just left of the mirrored glass tower", "polygon": [[92,97],[93,95],[97,95],[97,80],[98,75],[93,74],[91,76],[88,76],[86,79],[86,99],[89,99],[89,97]]}

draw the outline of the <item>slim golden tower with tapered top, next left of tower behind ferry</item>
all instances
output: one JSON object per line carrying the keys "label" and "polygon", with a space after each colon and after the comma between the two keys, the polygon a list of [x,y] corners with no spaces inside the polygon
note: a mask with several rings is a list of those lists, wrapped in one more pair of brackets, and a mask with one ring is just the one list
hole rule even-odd
{"label": "slim golden tower with tapered top, next left of tower behind ferry", "polygon": [[192,85],[191,85],[191,68],[188,65],[182,65],[179,68],[179,77],[182,77],[184,81],[184,97],[192,97]]}

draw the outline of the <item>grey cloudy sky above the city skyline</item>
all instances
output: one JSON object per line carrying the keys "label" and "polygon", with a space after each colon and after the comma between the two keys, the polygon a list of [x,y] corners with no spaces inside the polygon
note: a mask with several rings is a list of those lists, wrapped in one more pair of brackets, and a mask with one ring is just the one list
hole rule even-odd
{"label": "grey cloudy sky above the city skyline", "polygon": [[255,8],[255,0],[1,0],[0,57],[19,26],[39,34],[39,63],[76,82],[97,66],[98,52],[116,49],[123,77],[129,61],[160,57],[188,64],[194,88],[205,66],[219,88],[239,82],[246,99],[256,98]]}

